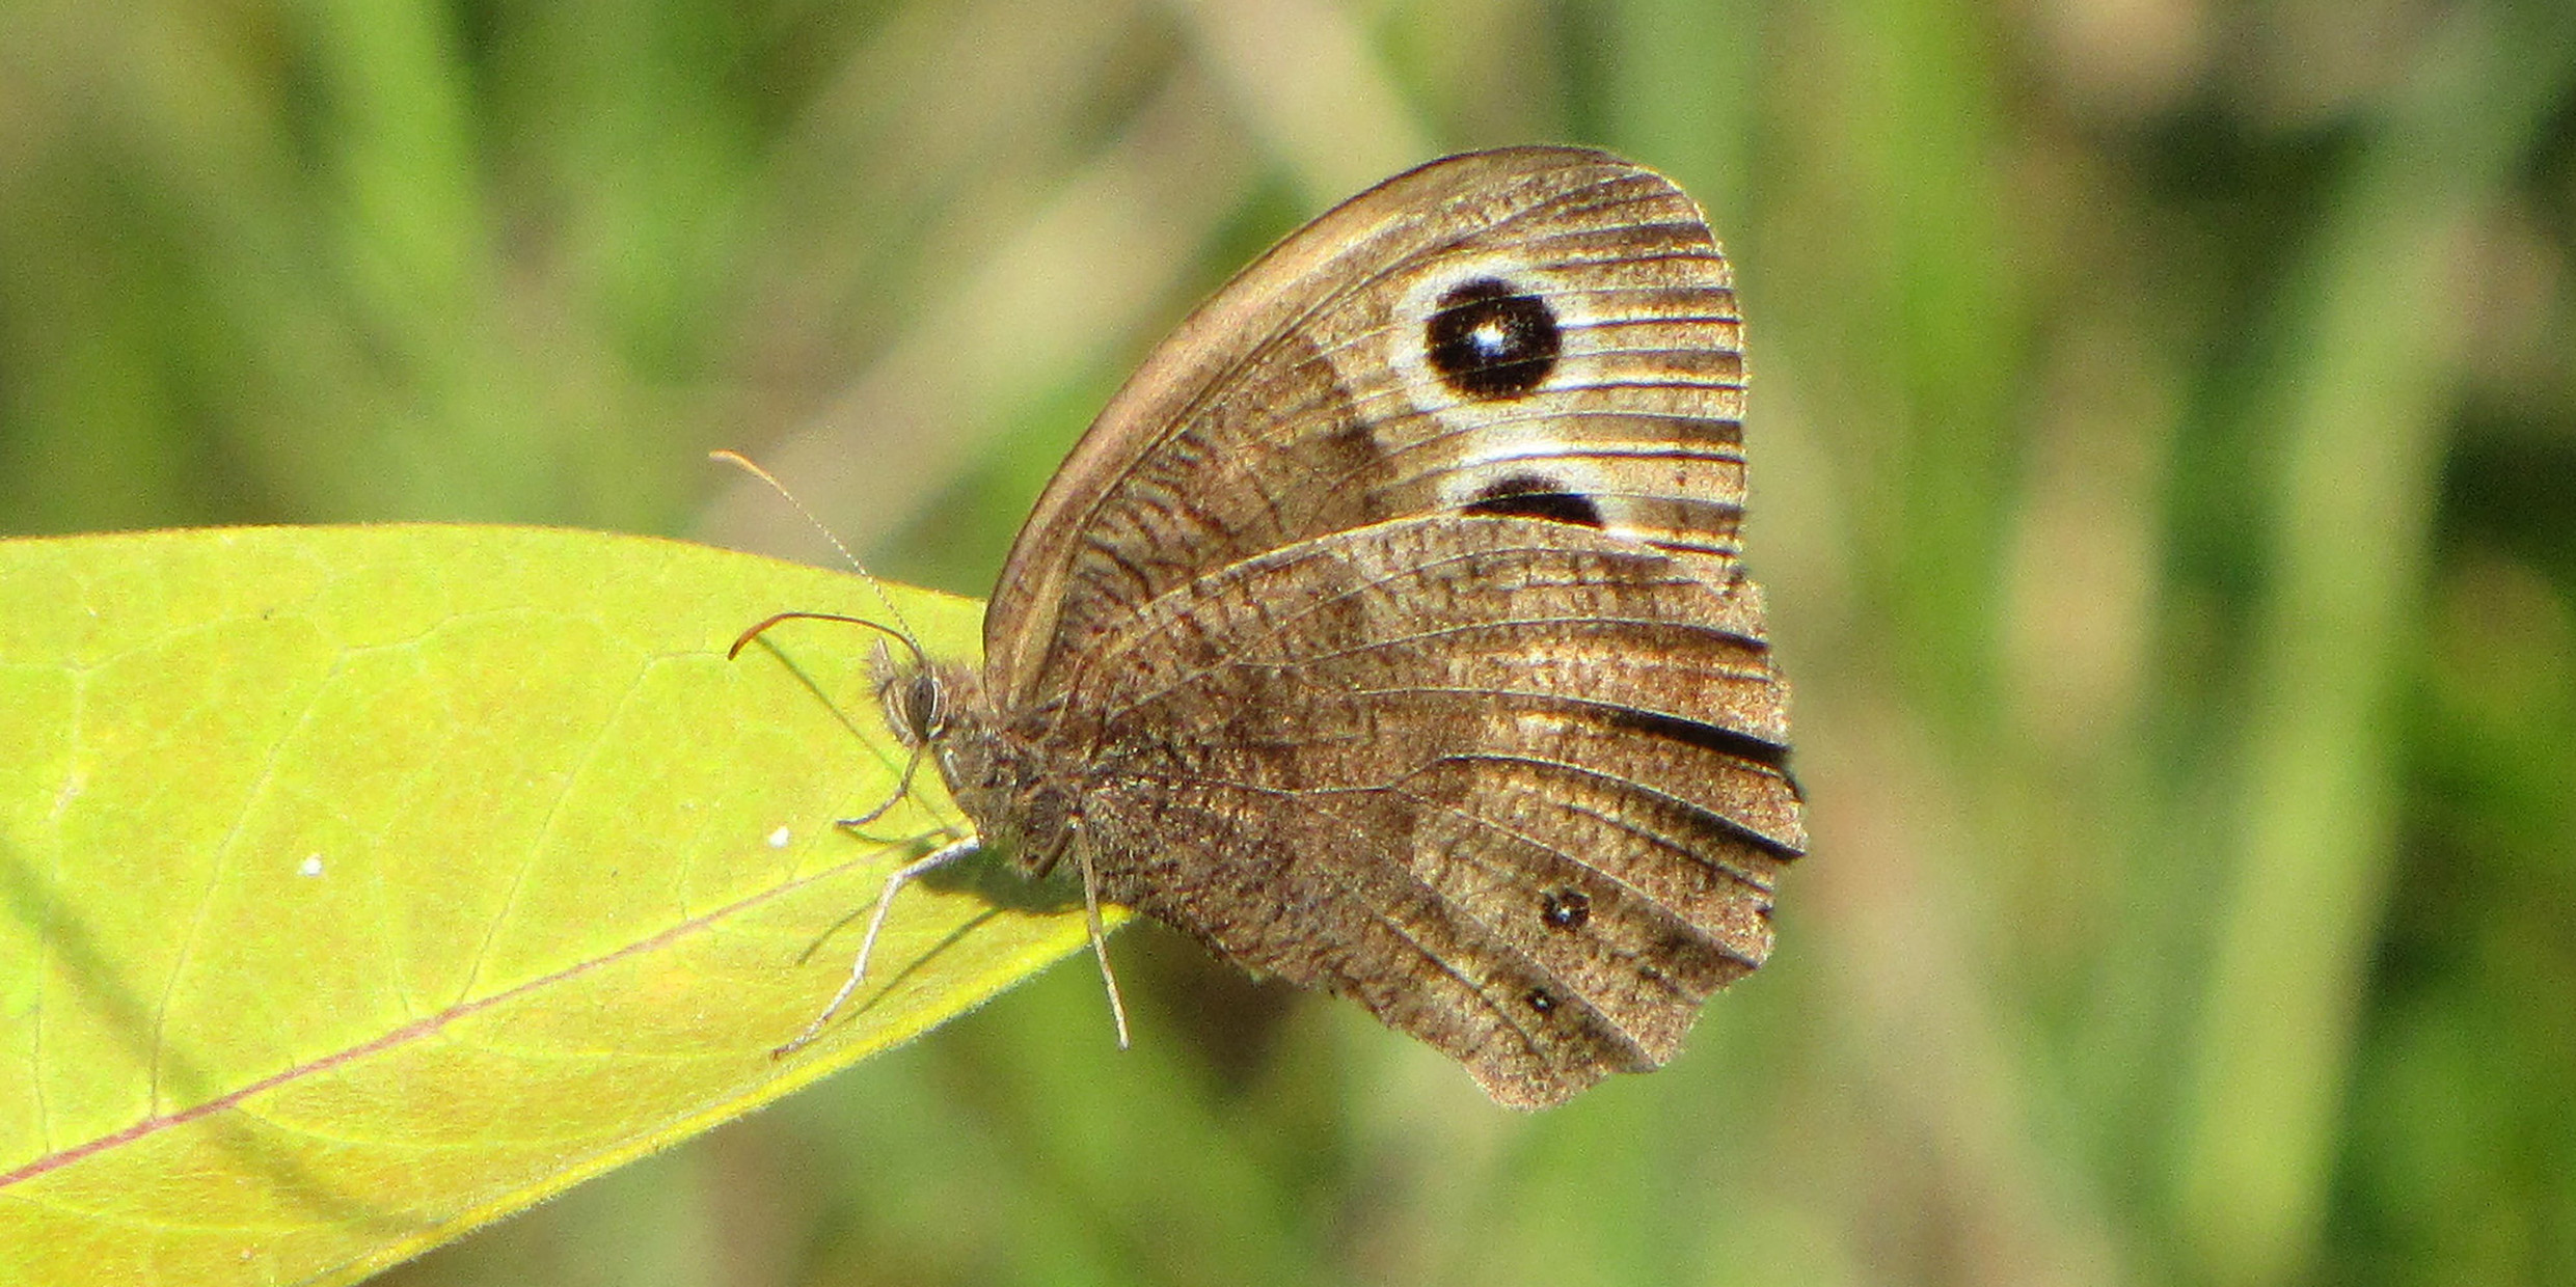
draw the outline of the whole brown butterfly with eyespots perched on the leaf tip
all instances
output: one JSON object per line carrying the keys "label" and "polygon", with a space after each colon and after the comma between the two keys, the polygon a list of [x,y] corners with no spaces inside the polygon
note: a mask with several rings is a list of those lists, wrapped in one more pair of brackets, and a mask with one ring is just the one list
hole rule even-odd
{"label": "whole brown butterfly with eyespots perched on the leaf tip", "polygon": [[1510,1107],[1662,1066],[1806,847],[1741,417],[1726,257],[1651,170],[1473,152],[1306,224],[1092,422],[981,672],[889,674],[976,839],[868,945],[997,847],[1077,865],[1095,947],[1133,906]]}

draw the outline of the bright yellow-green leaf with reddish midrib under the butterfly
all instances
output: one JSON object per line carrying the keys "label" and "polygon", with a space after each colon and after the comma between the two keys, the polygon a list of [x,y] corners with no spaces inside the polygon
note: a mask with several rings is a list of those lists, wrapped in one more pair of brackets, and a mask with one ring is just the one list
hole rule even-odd
{"label": "bright yellow-green leaf with reddish midrib under the butterfly", "polygon": [[[971,602],[896,589],[935,654]],[[907,891],[853,577],[528,528],[0,541],[0,1282],[348,1282],[1082,945]],[[1015,885],[997,885],[1015,888]]]}

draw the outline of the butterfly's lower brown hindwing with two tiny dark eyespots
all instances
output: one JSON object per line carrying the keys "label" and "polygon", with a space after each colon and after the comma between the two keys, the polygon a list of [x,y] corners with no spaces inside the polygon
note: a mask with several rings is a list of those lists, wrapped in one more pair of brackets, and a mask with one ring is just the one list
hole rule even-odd
{"label": "butterfly's lower brown hindwing with two tiny dark eyespots", "polygon": [[1770,950],[1803,847],[1772,690],[1659,551],[1399,520],[1157,600],[1051,759],[1108,896],[1540,1104],[1672,1058]]}

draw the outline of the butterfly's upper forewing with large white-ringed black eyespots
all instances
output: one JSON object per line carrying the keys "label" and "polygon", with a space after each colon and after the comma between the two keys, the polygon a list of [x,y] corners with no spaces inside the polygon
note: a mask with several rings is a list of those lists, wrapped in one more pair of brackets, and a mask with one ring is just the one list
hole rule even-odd
{"label": "butterfly's upper forewing with large white-ringed black eyespots", "polygon": [[[1548,314],[1546,371],[1461,381],[1461,350],[1427,345],[1520,299]],[[1154,595],[1406,515],[1561,497],[1731,556],[1741,366],[1726,260],[1664,178],[1561,147],[1399,175],[1236,275],[1121,389],[1012,548],[989,674],[1033,700]]]}

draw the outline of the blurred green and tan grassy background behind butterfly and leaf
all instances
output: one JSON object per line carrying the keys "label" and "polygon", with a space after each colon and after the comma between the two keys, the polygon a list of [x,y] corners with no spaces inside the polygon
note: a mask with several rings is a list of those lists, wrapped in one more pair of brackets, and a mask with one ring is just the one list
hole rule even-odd
{"label": "blurred green and tan grassy background behind butterfly and leaf", "polygon": [[430,1284],[2576,1282],[2576,13],[0,0],[0,530],[981,595],[1154,337],[1445,149],[1682,180],[1814,855],[1540,1117],[1121,934]]}

